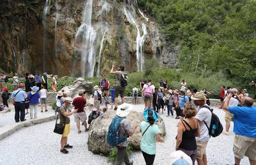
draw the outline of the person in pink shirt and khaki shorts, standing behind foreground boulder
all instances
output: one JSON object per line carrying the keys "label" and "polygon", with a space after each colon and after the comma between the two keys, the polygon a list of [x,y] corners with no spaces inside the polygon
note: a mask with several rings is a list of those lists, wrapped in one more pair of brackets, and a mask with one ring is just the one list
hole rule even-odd
{"label": "person in pink shirt and khaki shorts, standing behind foreground boulder", "polygon": [[144,103],[145,103],[145,109],[152,107],[152,99],[153,99],[153,93],[155,93],[155,86],[152,84],[151,79],[148,79],[148,82],[144,84],[142,88]]}

